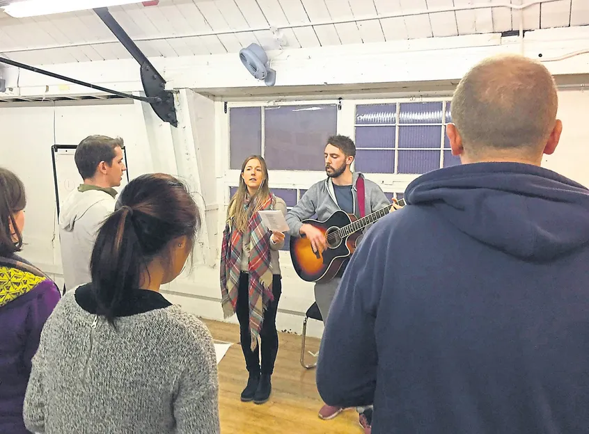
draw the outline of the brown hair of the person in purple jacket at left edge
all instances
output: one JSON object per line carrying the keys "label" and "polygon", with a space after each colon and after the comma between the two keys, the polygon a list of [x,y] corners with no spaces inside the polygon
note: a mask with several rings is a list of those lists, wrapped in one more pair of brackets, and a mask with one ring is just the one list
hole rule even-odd
{"label": "brown hair of the person in purple jacket at left edge", "polygon": [[10,170],[0,168],[0,255],[3,257],[10,257],[22,249],[22,234],[14,214],[24,207],[26,195],[22,181]]}

